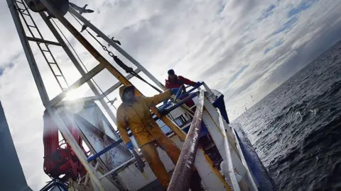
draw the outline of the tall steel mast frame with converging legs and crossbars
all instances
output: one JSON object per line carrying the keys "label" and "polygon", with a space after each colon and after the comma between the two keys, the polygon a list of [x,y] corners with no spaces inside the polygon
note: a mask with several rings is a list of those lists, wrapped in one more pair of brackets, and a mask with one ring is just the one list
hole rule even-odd
{"label": "tall steel mast frame with converging legs and crossbars", "polygon": [[[65,3],[65,1],[63,2],[59,1],[59,2]],[[26,6],[25,3],[28,4],[28,7]],[[24,2],[23,0],[18,0],[18,1],[7,0],[7,4],[9,5],[9,9],[11,11],[13,22],[16,25],[16,29],[18,31],[21,44],[23,45],[23,50],[26,54],[26,58],[28,59],[28,64],[33,74],[33,79],[38,88],[38,93],[43,102],[43,105],[48,111],[48,114],[50,115],[50,117],[52,117],[55,124],[58,125],[58,128],[60,132],[63,134],[63,137],[65,137],[67,143],[70,144],[70,146],[72,147],[72,150],[75,151],[77,158],[79,158],[82,165],[85,166],[87,173],[90,175],[90,180],[92,180],[93,183],[97,185],[99,190],[105,190],[104,185],[103,185],[103,179],[99,180],[99,177],[96,171],[94,170],[94,167],[90,165],[90,163],[87,162],[87,158],[85,154],[83,153],[80,146],[77,144],[77,141],[74,139],[74,137],[72,137],[70,130],[67,129],[67,126],[63,122],[60,115],[58,115],[58,112],[55,109],[55,106],[60,104],[60,102],[67,96],[68,92],[74,90],[75,88],[82,86],[82,84],[84,83],[87,83],[90,86],[90,89],[92,89],[92,91],[96,95],[94,98],[99,100],[104,110],[106,110],[108,115],[112,118],[112,121],[116,123],[115,115],[113,114],[112,110],[110,110],[109,106],[103,100],[103,98],[107,96],[109,93],[111,93],[112,91],[114,91],[116,88],[121,86],[121,84],[124,84],[124,85],[131,84],[129,82],[129,79],[131,79],[131,77],[133,76],[131,75],[123,76],[117,69],[114,68],[114,66],[112,66],[112,64],[110,64],[106,59],[104,59],[104,57],[102,57],[102,55],[99,54],[99,52],[97,52],[97,50],[95,50],[94,47],[92,47],[92,45],[90,45],[90,43],[87,42],[87,40],[84,37],[82,37],[82,35],[72,26],[72,24],[69,23],[69,21],[67,21],[63,17],[63,15],[60,13],[60,10],[56,9],[55,6],[53,6],[53,4],[56,4],[56,1],[41,1],[40,2],[38,0],[25,0]],[[20,8],[19,4],[20,6],[23,6],[23,8]],[[70,33],[72,33],[72,35],[74,35],[77,38],[77,40],[79,40],[82,43],[82,45],[85,46],[85,48],[90,52],[90,54],[92,54],[95,57],[95,59],[99,61],[99,64],[95,66],[93,69],[91,69],[90,71],[85,71],[85,69],[83,69],[80,63],[77,61],[75,55],[71,52],[69,47],[67,47],[65,41],[60,36],[58,31],[55,29],[54,25],[50,22],[51,16],[47,16],[46,13],[44,13],[43,11],[36,10],[36,12],[40,14],[41,18],[43,18],[43,21],[45,21],[46,25],[48,25],[48,28],[50,28],[50,31],[53,33],[53,35],[58,40],[58,42],[45,40],[43,36],[40,34],[40,31],[38,30],[38,26],[33,21],[31,13],[29,13],[28,11],[29,10],[28,8],[32,9],[32,5],[34,4],[38,5],[36,7],[39,7],[39,8],[45,6],[43,11],[48,11],[55,18],[58,18],[60,23],[62,23],[65,26],[65,28],[67,28],[67,30],[69,30]],[[67,7],[68,7],[68,2],[67,2]],[[70,8],[69,11],[70,13],[73,13],[75,16],[79,17],[81,20],[84,19],[82,18],[82,16],[80,16],[80,14],[77,14],[77,12],[75,12],[72,8]],[[19,14],[22,17],[22,19],[20,18]],[[26,21],[26,19],[31,19],[31,21],[33,22],[33,25],[29,24]],[[26,35],[26,30],[23,28],[23,24],[26,24],[29,33],[31,33],[32,35],[31,37]],[[99,31],[97,28],[94,29],[94,26],[91,23],[86,23],[86,24],[89,25],[92,28],[92,30],[98,33],[99,36],[101,36],[104,40],[106,40],[109,44],[111,44],[112,47],[116,48],[122,55],[124,55],[124,57],[126,57],[127,59],[129,59],[129,61],[131,61],[134,65],[136,65],[138,67],[138,69],[136,69],[136,73],[138,73],[139,71],[144,71],[144,73],[154,83],[156,83],[158,87],[160,87],[161,89],[164,89],[164,86],[153,75],[151,75],[141,64],[139,64],[139,62],[137,62],[124,50],[122,50],[121,47],[114,44],[112,40],[109,40],[109,38],[106,35],[104,35],[104,33]],[[38,36],[34,36],[32,30],[37,30]],[[50,99],[48,97],[48,93],[45,89],[45,83],[43,82],[42,76],[40,75],[40,71],[38,69],[36,59],[33,55],[31,46],[29,44],[30,41],[37,43],[40,49],[40,52],[43,53],[43,57],[48,63],[48,66],[50,66],[50,69],[53,75],[55,76],[55,79],[58,81],[58,84],[60,88],[62,89],[62,93],[60,93],[55,98]],[[69,84],[67,84],[67,81],[63,75],[63,72],[61,71],[60,67],[58,66],[58,63],[53,57],[53,54],[50,51],[49,45],[63,47],[63,50],[65,50],[67,56],[70,57],[70,60],[75,65],[75,67],[80,72],[80,74],[82,75],[80,79],[78,79],[75,83],[70,84],[70,86]],[[47,59],[48,57],[47,55],[49,54],[53,58],[53,61]],[[57,66],[57,69],[55,69],[55,67],[53,66]],[[99,93],[98,89],[96,88],[95,84],[91,81],[91,79],[95,75],[99,74],[99,72],[102,71],[103,69],[107,69],[110,73],[112,73],[112,75],[114,75],[119,80],[119,83],[116,83],[114,86],[112,86],[107,91],[101,94]],[[152,110],[156,115],[158,115],[158,110],[156,108],[153,108]],[[163,116],[161,117],[161,120],[163,120],[163,122],[165,122],[165,124],[168,125],[168,127],[171,127],[171,129],[173,129],[173,132],[178,134],[179,137],[181,137],[182,139],[185,139],[185,133],[177,125],[175,125],[175,123],[173,123],[168,117]],[[116,134],[116,132],[114,132],[114,134]],[[118,136],[116,138],[119,139]],[[115,186],[110,185],[110,187],[115,187]]]}

